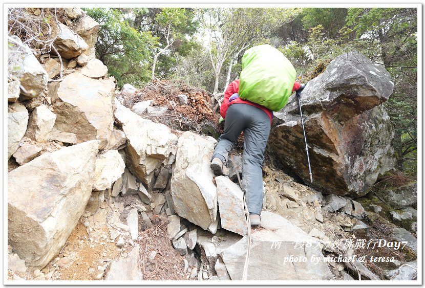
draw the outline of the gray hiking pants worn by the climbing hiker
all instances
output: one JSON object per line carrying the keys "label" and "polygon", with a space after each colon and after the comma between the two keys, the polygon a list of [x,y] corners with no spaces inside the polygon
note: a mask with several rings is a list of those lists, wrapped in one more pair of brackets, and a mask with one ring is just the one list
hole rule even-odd
{"label": "gray hiking pants worn by the climbing hiker", "polygon": [[[270,134],[270,118],[262,109],[244,103],[227,108],[223,134],[213,153],[228,164],[228,155],[244,131],[244,155],[242,166],[242,189],[245,192],[248,211],[261,214],[263,207],[264,150]],[[211,159],[212,160],[212,159]],[[228,165],[227,165],[228,166]]]}

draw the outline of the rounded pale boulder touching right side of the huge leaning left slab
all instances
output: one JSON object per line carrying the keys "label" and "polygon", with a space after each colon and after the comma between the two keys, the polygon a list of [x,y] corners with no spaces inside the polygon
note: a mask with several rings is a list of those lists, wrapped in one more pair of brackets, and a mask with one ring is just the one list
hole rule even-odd
{"label": "rounded pale boulder touching right side of the huge leaning left slab", "polygon": [[93,190],[111,188],[124,173],[125,164],[117,150],[109,150],[96,158]]}

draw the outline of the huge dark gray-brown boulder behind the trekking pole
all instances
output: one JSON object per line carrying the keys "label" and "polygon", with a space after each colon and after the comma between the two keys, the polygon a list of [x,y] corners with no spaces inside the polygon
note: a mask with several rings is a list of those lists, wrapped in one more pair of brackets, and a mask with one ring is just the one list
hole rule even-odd
{"label": "huge dark gray-brown boulder behind the trekking pole", "polygon": [[[394,132],[380,105],[394,84],[381,65],[370,62],[357,52],[336,57],[301,93],[312,186],[326,193],[363,196],[379,173],[394,167]],[[275,116],[271,149],[310,183],[296,96]]]}

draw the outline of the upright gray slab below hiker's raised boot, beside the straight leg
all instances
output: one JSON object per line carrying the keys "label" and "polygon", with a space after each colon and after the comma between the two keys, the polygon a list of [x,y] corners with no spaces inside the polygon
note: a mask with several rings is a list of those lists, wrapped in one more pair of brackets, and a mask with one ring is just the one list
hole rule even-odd
{"label": "upright gray slab below hiker's raised boot, beside the straight leg", "polygon": [[243,191],[226,176],[216,177],[216,184],[221,227],[239,235],[245,235],[247,223]]}

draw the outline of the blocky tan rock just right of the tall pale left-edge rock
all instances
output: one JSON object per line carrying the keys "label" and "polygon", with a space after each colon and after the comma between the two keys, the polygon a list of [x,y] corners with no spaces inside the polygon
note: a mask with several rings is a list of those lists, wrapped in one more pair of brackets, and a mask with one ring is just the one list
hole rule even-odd
{"label": "blocky tan rock just right of the tall pale left-edge rock", "polygon": [[44,143],[47,141],[55,121],[56,115],[46,105],[35,107],[25,135],[39,143]]}

